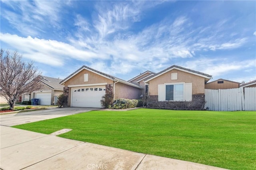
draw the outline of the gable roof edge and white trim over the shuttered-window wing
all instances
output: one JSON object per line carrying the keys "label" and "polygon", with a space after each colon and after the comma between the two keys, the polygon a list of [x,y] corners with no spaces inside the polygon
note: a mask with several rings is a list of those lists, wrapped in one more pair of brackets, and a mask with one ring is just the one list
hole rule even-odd
{"label": "gable roof edge and white trim over the shuttered-window wing", "polygon": [[169,72],[169,71],[171,71],[171,70],[173,70],[173,69],[177,69],[177,70],[180,70],[180,71],[184,71],[184,72],[187,72],[187,73],[191,73],[191,74],[194,74],[194,75],[198,75],[198,76],[200,76],[200,77],[204,77],[205,83],[206,83],[207,81],[209,81],[209,80],[212,78],[212,75],[209,75],[209,74],[206,74],[206,73],[202,73],[202,72],[195,71],[195,70],[192,70],[192,69],[187,69],[187,68],[185,68],[185,67],[180,67],[180,66],[178,66],[178,65],[172,65],[172,66],[170,66],[170,67],[164,69],[163,71],[160,71],[159,73],[156,73],[156,74],[154,74],[154,75],[148,77],[148,79],[146,79],[144,82],[147,83],[147,82],[149,82],[150,80],[152,80],[152,79],[154,79],[154,78],[156,78],[156,77],[158,77],[158,76],[160,76],[160,75],[162,75],[162,74],[164,74],[164,73],[167,73],[167,72]]}

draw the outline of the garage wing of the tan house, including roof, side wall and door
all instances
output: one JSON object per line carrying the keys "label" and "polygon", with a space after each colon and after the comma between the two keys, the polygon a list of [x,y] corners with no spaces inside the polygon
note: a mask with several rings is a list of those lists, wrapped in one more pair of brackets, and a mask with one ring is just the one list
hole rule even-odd
{"label": "garage wing of the tan house, including roof, side wall and door", "polygon": [[106,93],[114,99],[140,99],[141,87],[112,75],[82,66],[60,82],[68,95],[69,107],[101,107],[100,100]]}

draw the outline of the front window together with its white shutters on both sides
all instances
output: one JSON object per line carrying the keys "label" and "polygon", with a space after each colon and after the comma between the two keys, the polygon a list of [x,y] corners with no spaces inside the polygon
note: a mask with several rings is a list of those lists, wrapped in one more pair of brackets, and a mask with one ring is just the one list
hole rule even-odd
{"label": "front window together with its white shutters on both sides", "polygon": [[158,85],[158,101],[191,101],[192,83]]}

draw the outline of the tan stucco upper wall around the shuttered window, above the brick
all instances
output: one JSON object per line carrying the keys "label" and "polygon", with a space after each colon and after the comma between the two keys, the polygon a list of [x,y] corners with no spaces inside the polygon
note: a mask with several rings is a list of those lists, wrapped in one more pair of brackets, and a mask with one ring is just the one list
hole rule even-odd
{"label": "tan stucco upper wall around the shuttered window, above the brick", "polygon": [[[178,79],[172,80],[172,73],[178,73]],[[173,69],[149,81],[149,95],[158,95],[158,85],[164,83],[192,83],[192,95],[204,94],[204,77]]]}

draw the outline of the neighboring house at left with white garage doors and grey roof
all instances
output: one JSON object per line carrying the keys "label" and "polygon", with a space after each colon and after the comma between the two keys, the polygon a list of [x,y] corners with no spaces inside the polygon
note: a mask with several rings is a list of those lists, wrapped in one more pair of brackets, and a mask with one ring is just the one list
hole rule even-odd
{"label": "neighboring house at left with white garage doors and grey roof", "polygon": [[33,91],[31,98],[39,99],[39,105],[56,105],[58,96],[63,93],[64,85],[60,85],[61,79],[42,76],[44,88]]}

